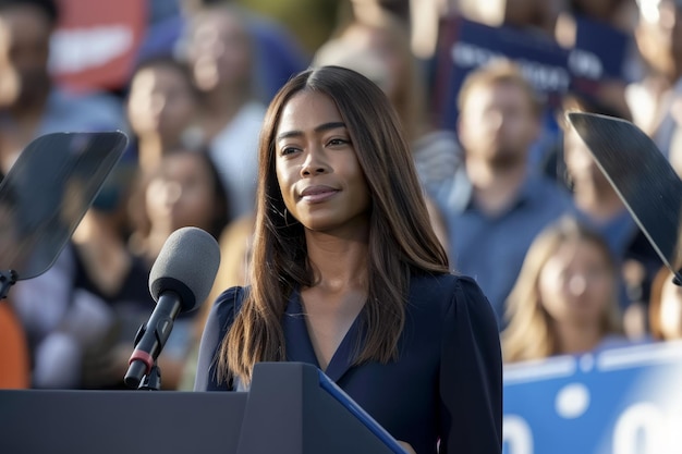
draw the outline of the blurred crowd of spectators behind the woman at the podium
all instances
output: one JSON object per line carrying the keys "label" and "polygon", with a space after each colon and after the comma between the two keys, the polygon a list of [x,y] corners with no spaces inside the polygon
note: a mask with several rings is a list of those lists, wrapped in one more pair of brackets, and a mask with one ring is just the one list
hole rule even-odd
{"label": "blurred crowd of spectators behind the woman at the podium", "polygon": [[[54,265],[0,303],[0,388],[123,388],[155,306],[149,269],[192,225],[218,240],[222,261],[159,357],[163,389],[192,389],[211,302],[248,283],[267,105],[293,74],[327,64],[365,74],[393,103],[434,229],[452,269],[488,296],[506,361],[682,338],[682,287],[564,115],[634,122],[682,175],[682,1],[338,0],[317,22],[333,24],[320,42],[258,2],[147,3],[124,84],[83,90],[50,70],[61,3],[0,0],[0,175],[51,132],[131,139]],[[564,48],[588,21],[625,38],[625,70],[550,102],[517,61],[496,58],[448,98],[439,50],[461,19]]]}

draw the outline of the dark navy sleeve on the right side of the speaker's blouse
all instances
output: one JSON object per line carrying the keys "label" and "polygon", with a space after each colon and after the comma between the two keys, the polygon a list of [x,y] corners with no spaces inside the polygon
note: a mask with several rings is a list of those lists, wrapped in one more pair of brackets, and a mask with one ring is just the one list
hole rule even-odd
{"label": "dark navy sleeve on the right side of the speaker's blouse", "polygon": [[497,319],[478,284],[461,277],[443,321],[440,453],[502,452],[502,355]]}

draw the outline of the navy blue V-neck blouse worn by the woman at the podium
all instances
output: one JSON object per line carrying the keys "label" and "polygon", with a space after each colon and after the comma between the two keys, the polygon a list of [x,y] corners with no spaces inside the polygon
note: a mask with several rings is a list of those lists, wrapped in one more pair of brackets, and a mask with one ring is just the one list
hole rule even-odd
{"label": "navy blue V-neck blouse worn by the woman at the podium", "polygon": [[[195,391],[229,391],[227,383],[217,381],[215,358],[243,296],[244,289],[232,287],[212,307],[202,339]],[[472,279],[412,277],[395,361],[351,366],[358,320],[325,371],[346,394],[418,454],[501,453],[498,327],[490,304]],[[282,328],[287,359],[319,367],[297,293],[290,298]]]}

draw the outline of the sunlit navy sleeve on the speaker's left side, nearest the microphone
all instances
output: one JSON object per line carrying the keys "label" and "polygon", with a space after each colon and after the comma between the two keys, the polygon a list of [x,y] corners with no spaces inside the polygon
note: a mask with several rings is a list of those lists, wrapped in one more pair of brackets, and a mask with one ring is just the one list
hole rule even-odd
{"label": "sunlit navy sleeve on the speaker's left side, nearest the microphone", "polygon": [[231,287],[224,291],[210,309],[202,343],[194,380],[194,391],[229,391],[228,383],[218,382],[217,360],[222,339],[228,333],[234,317],[242,305],[243,287]]}

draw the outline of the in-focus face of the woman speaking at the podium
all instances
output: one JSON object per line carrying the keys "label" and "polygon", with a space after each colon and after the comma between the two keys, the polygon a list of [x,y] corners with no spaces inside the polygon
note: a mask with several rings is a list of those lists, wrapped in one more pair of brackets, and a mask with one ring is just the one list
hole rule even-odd
{"label": "in-focus face of the woman speaking at the podium", "polygon": [[348,127],[328,96],[301,91],[284,106],[275,164],[287,209],[305,228],[366,229],[369,189]]}

